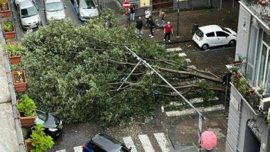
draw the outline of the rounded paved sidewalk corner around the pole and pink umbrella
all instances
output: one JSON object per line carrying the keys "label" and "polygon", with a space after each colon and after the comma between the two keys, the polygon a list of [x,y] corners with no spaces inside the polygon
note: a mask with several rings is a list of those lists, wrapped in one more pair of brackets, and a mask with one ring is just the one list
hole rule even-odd
{"label": "rounded paved sidewalk corner around the pole and pink umbrella", "polygon": [[[206,120],[202,122],[202,132],[213,131],[217,135],[217,146],[215,146],[213,152],[225,151],[228,119],[221,113],[207,113],[204,116]],[[198,116],[193,116],[177,118],[171,124],[168,133],[175,150],[179,152],[196,152],[199,150],[198,122]],[[204,150],[201,152],[204,152]]]}

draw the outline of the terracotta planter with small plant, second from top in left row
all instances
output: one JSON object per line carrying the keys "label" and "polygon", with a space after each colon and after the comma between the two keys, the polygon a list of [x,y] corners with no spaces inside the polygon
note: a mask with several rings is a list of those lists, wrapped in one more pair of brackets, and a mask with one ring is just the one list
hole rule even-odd
{"label": "terracotta planter with small plant, second from top in left row", "polygon": [[3,35],[5,35],[6,39],[15,38],[15,26],[13,21],[11,21],[10,19],[3,21],[3,30],[4,30]]}

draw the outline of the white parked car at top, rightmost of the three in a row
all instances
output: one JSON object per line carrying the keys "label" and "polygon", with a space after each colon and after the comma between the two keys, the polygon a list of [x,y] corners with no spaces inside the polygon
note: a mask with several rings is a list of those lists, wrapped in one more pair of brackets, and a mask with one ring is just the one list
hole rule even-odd
{"label": "white parked car at top, rightmost of the three in a row", "polygon": [[98,5],[93,0],[74,0],[74,8],[82,21],[98,16]]}

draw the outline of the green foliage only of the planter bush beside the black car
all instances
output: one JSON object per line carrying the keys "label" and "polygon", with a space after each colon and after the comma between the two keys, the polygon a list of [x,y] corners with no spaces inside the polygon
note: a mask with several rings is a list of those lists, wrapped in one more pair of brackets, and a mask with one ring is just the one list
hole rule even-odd
{"label": "green foliage only of the planter bush beside the black car", "polygon": [[25,116],[35,116],[35,102],[33,99],[30,99],[28,95],[22,95],[22,99],[17,108],[19,109],[19,112],[24,113]]}

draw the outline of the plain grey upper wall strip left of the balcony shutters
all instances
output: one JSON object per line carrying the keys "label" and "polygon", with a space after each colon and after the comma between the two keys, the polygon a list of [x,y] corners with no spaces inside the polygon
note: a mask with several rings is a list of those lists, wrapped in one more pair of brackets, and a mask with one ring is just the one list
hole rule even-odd
{"label": "plain grey upper wall strip left of the balcony shutters", "polygon": [[237,28],[237,45],[235,49],[235,61],[239,55],[246,57],[249,47],[249,34],[251,27],[251,14],[240,5],[239,20]]}

